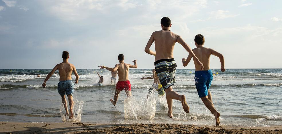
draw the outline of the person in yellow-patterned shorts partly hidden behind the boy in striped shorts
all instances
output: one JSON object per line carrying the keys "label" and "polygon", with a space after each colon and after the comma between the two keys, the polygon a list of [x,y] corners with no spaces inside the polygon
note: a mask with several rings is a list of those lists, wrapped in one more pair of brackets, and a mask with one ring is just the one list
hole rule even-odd
{"label": "person in yellow-patterned shorts partly hidden behind the boy in striped shorts", "polygon": [[154,92],[153,91],[154,89],[158,92],[159,96],[164,96],[164,88],[162,87],[162,84],[160,84],[160,80],[159,80],[159,78],[157,76],[156,69],[153,69],[152,71],[153,71],[153,76],[151,76],[151,77],[142,77],[141,78],[142,80],[154,79],[153,87],[151,87],[148,90],[147,98],[149,97],[149,94]]}

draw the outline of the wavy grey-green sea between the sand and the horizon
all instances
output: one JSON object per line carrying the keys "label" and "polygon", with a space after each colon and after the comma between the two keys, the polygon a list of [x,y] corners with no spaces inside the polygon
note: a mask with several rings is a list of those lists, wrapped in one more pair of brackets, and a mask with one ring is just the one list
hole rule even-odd
{"label": "wavy grey-green sea between the sand and the horizon", "polygon": [[[220,112],[221,125],[282,125],[282,69],[211,69],[214,79],[210,87],[212,101]],[[177,69],[173,90],[186,96],[190,112],[183,111],[180,101],[173,101],[173,118],[167,116],[165,96],[158,93],[147,99],[152,69],[130,69],[132,97],[120,92],[116,106],[110,99],[115,94],[111,72],[105,69],[77,69],[73,119],[65,116],[57,91],[59,72],[42,83],[51,69],[0,69],[0,121],[15,122],[84,122],[106,124],[173,123],[215,125],[214,116],[197,94],[194,69]],[[103,75],[103,86],[98,86]],[[40,74],[41,77],[36,77]],[[72,76],[75,80],[75,76]]]}

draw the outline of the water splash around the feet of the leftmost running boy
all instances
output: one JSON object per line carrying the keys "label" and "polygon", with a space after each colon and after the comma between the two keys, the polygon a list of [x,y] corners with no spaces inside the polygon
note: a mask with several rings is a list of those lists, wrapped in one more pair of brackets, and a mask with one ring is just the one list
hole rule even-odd
{"label": "water splash around the feet of the leftmost running boy", "polygon": [[[66,111],[64,109],[64,104],[60,107],[60,115],[63,122],[80,122],[82,117],[82,111],[83,111],[83,101],[74,101],[73,105],[73,118],[69,119],[68,116],[66,116]],[[69,106],[68,106],[69,108]]]}

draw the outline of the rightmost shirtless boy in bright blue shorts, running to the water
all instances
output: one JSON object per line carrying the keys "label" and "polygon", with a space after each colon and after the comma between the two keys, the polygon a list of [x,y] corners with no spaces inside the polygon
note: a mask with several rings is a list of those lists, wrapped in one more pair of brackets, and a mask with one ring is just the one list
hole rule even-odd
{"label": "rightmost shirtless boy in bright blue shorts, running to the water", "polygon": [[[216,118],[216,125],[219,126],[220,124],[220,113],[216,111],[214,108],[214,104],[212,103],[211,99],[211,92],[209,91],[209,87],[211,86],[211,81],[213,80],[213,74],[209,67],[209,58],[212,55],[219,57],[221,63],[221,71],[225,71],[224,67],[224,57],[219,52],[211,48],[205,48],[205,38],[201,34],[195,36],[195,45],[197,48],[194,48],[192,51],[197,56],[197,58],[203,63],[204,69],[201,69],[201,66],[197,64],[197,61],[193,58],[195,64],[195,85],[198,91],[198,95],[205,104],[205,106],[211,111],[211,113]],[[187,66],[192,58],[192,55],[189,54],[187,60],[185,58],[182,59],[183,66]]]}

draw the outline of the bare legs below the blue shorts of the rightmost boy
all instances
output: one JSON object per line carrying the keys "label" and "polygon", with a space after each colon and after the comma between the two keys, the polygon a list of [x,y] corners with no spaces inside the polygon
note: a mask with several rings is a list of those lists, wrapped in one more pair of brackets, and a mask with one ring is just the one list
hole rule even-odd
{"label": "bare legs below the blue shorts of the rightmost boy", "polygon": [[203,103],[205,104],[205,106],[209,109],[209,111],[211,111],[211,113],[214,115],[214,117],[216,118],[216,125],[219,126],[220,124],[220,113],[218,113],[218,111],[216,111],[216,109],[214,108],[214,104],[211,102],[211,100],[209,100],[209,98],[207,96],[205,97],[201,97]]}

